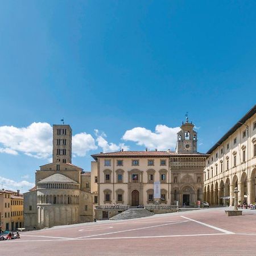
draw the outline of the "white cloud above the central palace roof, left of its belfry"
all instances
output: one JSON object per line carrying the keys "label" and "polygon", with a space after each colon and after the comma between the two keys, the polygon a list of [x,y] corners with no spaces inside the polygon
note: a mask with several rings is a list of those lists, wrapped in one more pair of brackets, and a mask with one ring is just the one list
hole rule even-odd
{"label": "white cloud above the central palace roof, left of its belfry", "polygon": [[136,142],[139,146],[148,147],[150,150],[174,150],[177,141],[177,132],[180,127],[167,127],[166,125],[156,125],[155,132],[144,127],[135,127],[127,130],[122,139]]}

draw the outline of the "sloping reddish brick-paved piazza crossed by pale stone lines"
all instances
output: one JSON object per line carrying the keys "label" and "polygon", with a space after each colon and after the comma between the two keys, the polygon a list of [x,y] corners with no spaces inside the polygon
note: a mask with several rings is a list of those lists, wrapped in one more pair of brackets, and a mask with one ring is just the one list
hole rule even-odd
{"label": "sloping reddish brick-paved piazza crossed by pale stone lines", "polygon": [[227,208],[97,221],[24,232],[0,241],[1,255],[245,255],[256,251],[256,210]]}

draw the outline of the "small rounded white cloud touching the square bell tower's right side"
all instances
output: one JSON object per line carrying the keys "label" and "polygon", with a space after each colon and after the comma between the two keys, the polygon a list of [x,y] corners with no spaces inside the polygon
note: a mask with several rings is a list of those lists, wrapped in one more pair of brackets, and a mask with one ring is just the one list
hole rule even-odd
{"label": "small rounded white cloud touching the square bell tower's right side", "polygon": [[87,151],[96,149],[92,135],[79,133],[72,137],[72,152],[75,156],[85,156]]}

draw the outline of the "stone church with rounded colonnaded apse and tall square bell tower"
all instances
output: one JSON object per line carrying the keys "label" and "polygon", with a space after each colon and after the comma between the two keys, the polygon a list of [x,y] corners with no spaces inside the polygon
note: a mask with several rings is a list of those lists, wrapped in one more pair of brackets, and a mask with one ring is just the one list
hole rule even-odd
{"label": "stone church with rounded colonnaded apse and tall square bell tower", "polygon": [[24,193],[24,228],[93,220],[90,172],[72,164],[72,129],[53,125],[53,162],[40,166],[35,188]]}

